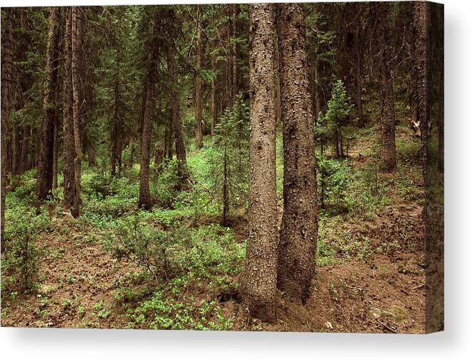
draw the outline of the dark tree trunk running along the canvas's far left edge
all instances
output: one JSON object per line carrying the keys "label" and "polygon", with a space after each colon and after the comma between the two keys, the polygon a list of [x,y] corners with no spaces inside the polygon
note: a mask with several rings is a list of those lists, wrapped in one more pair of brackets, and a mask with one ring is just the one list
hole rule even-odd
{"label": "dark tree trunk running along the canvas's far left edge", "polygon": [[4,31],[1,37],[1,240],[5,229],[5,194],[8,171],[7,144],[11,111],[13,30],[12,9],[5,9]]}

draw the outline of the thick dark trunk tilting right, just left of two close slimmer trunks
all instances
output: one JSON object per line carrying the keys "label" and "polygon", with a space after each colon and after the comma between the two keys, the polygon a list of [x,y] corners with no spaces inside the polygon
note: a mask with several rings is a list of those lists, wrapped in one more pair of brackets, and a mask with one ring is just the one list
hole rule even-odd
{"label": "thick dark trunk tilting right, just left of two close slimmer trunks", "polygon": [[46,81],[43,96],[43,124],[41,128],[41,142],[39,144],[38,181],[36,193],[40,200],[44,200],[51,192],[54,174],[54,139],[58,112],[56,111],[56,81],[58,76],[59,8],[49,9],[49,32],[46,46]]}

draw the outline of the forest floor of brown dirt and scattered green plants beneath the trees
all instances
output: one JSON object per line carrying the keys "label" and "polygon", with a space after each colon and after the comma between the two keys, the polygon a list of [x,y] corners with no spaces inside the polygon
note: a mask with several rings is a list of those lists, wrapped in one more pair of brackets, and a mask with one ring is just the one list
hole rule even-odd
{"label": "forest floor of brown dirt and scattered green plants beneath the trees", "polygon": [[[377,132],[353,133],[349,157],[341,161],[353,175],[346,186],[346,210],[328,207],[321,213],[311,295],[301,306],[281,294],[277,323],[250,318],[236,300],[245,256],[243,216],[222,227],[216,212],[197,213],[201,206],[183,201],[172,209],[136,211],[130,192],[129,203],[113,203],[116,196],[85,198],[78,220],[49,213],[49,226],[36,241],[34,291],[17,292],[2,278],[1,326],[423,333],[419,142],[399,127],[398,171],[384,174],[376,166]],[[189,155],[194,174],[204,152]],[[91,182],[84,183],[87,192]],[[104,247],[104,231],[129,214],[164,230],[174,221],[186,228],[190,246],[174,248],[181,272],[150,278],[133,260],[117,259]]]}

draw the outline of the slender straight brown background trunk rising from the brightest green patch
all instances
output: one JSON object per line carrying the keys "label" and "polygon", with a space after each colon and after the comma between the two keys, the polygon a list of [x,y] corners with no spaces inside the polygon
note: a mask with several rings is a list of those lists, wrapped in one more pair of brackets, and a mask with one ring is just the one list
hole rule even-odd
{"label": "slender straight brown background trunk rising from the brightest green patch", "polygon": [[[197,5],[197,29],[196,29],[196,70],[201,70],[201,57],[203,56],[203,44],[201,37],[201,6]],[[202,119],[202,91],[200,74],[195,76],[195,146],[201,149],[204,146],[203,119]]]}

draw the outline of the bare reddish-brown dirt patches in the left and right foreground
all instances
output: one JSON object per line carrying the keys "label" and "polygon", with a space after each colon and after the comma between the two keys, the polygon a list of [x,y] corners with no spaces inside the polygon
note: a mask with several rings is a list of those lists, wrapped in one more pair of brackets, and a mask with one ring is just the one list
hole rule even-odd
{"label": "bare reddish-brown dirt patches in the left and right foreground", "polygon": [[[135,266],[116,262],[99,245],[73,243],[65,249],[60,241],[43,238],[41,246],[59,253],[41,261],[47,283],[36,293],[16,296],[14,303],[2,298],[8,308],[2,326],[126,328],[129,319],[114,293]],[[225,315],[235,317],[234,330],[423,333],[422,261],[421,253],[397,253],[393,260],[375,255],[317,268],[306,306],[281,296],[279,321],[272,325],[249,318],[234,300],[220,303]],[[106,318],[94,308],[101,302],[109,311]],[[84,313],[76,310],[79,305]]]}

